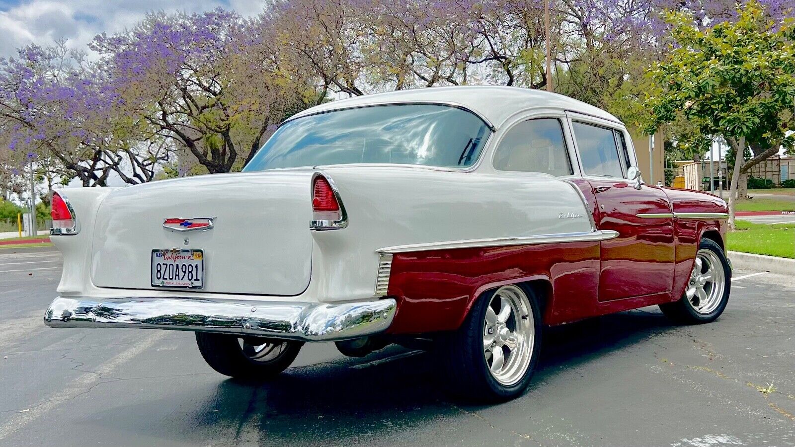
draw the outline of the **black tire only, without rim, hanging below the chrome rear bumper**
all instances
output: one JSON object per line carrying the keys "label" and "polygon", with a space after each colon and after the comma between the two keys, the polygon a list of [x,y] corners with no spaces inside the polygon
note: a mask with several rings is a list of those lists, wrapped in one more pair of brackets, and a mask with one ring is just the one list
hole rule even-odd
{"label": "black tire only, without rim, hanging below the chrome rear bumper", "polygon": [[[284,342],[284,345],[279,348],[281,352],[273,359],[262,361],[254,360],[252,356],[246,355],[239,339],[239,336],[229,334],[196,332],[196,344],[199,346],[199,352],[212,369],[235,379],[251,381],[273,379],[281,371],[285,371],[296,359],[303,345],[297,341]],[[252,343],[258,343],[258,341],[267,343],[269,341],[246,340]]]}

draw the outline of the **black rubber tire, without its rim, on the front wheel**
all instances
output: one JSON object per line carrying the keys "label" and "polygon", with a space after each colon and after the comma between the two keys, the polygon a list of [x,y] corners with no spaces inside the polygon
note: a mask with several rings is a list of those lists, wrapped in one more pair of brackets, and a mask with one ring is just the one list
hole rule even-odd
{"label": "black rubber tire, without its rim, on the front wheel", "polygon": [[[726,309],[726,305],[729,302],[729,293],[731,292],[731,266],[729,266],[726,253],[711,239],[701,239],[698,252],[702,253],[703,251],[711,252],[715,255],[715,259],[719,261],[719,265],[715,266],[715,268],[723,271],[723,293],[715,309],[710,309],[708,313],[697,310],[692,299],[688,298],[687,291],[682,294],[679,300],[661,304],[660,310],[665,314],[665,317],[669,317],[669,319],[677,324],[700,325],[712,323],[712,321],[720,317],[720,314],[723,313],[723,310]],[[698,255],[696,255],[696,257],[698,257]],[[692,278],[688,278],[688,287],[690,287],[690,281],[692,281]]]}

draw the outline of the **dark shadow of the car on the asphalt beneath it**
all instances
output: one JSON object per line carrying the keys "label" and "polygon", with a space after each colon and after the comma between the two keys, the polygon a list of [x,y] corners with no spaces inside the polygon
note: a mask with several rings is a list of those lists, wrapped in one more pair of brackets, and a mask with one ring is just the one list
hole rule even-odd
{"label": "dark shadow of the car on the asphalt beneath it", "polygon": [[[532,395],[534,384],[560,368],[577,368],[596,356],[674,330],[676,326],[656,308],[547,328],[536,376],[520,399]],[[215,410],[197,414],[193,423],[229,418],[239,426],[255,424],[273,444],[335,444],[346,437],[366,443],[366,437],[378,433],[404,433],[401,440],[406,441],[406,429],[439,418],[471,417],[471,411],[483,408],[449,398],[441,371],[429,352],[392,347],[363,359],[293,367],[267,385],[229,379],[219,383],[212,404],[205,407],[228,405],[231,410],[245,401],[244,414]]]}

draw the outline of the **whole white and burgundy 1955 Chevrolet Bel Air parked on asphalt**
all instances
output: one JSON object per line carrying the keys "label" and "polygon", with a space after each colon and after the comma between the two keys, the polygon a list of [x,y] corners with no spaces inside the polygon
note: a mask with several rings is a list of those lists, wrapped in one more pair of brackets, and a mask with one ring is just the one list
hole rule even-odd
{"label": "whole white and burgundy 1955 Chevrolet Bel Air parked on asphalt", "polygon": [[269,379],[304,342],[428,340],[470,398],[524,391],[542,325],[725,309],[727,207],[646,185],[615,116],[543,91],[438,87],[325,103],[242,173],[52,199],[53,328],[196,332],[222,374]]}

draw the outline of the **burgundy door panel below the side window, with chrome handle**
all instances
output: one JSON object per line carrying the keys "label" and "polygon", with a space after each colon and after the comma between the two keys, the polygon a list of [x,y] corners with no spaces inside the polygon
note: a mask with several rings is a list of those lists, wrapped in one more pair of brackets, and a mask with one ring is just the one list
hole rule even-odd
{"label": "burgundy door panel below the side window, with chrome handle", "polygon": [[[599,301],[670,293],[673,286],[673,217],[668,196],[657,187],[634,189],[624,180],[588,180],[599,230],[619,232],[602,242]],[[665,214],[665,217],[638,217]],[[658,297],[655,297],[654,301]]]}

